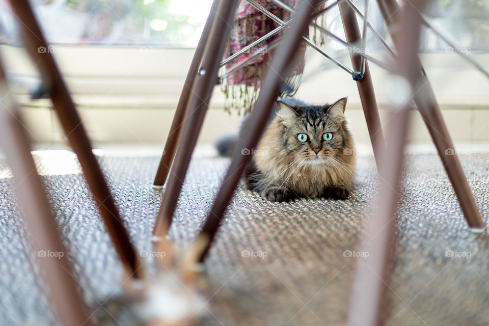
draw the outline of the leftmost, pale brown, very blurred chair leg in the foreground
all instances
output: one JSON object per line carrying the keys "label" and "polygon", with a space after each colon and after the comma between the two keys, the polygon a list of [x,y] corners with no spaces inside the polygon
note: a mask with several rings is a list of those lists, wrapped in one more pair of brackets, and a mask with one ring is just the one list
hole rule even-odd
{"label": "leftmost, pale brown, very blurred chair leg in the foreground", "polygon": [[5,150],[14,175],[26,227],[36,240],[31,244],[38,253],[37,261],[49,289],[49,301],[62,325],[93,325],[72,277],[73,268],[60,241],[41,178],[35,172],[36,166],[20,122],[21,117],[8,96],[6,85],[0,63],[0,145]]}

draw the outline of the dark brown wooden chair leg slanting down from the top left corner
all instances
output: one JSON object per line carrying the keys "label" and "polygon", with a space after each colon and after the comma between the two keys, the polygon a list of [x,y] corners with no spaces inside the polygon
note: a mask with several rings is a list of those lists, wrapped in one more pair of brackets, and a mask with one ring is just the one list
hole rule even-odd
{"label": "dark brown wooden chair leg slanting down from the top left corner", "polygon": [[11,0],[10,4],[22,28],[23,40],[31,56],[39,62],[39,67],[46,77],[50,87],[50,97],[61,125],[66,133],[73,151],[76,153],[83,169],[87,183],[93,194],[97,208],[115,249],[125,266],[127,273],[135,278],[142,275],[141,262],[129,240],[129,234],[121,221],[119,212],[114,204],[111,192],[105,182],[92,146],[88,139],[82,120],[76,112],[75,105],[64,84],[61,73],[49,51],[39,51],[47,48],[47,43],[39,28],[28,0]]}

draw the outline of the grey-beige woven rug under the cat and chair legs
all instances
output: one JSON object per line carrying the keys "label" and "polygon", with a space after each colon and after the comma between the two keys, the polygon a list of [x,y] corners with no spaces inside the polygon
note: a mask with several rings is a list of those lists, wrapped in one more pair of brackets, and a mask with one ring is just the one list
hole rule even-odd
{"label": "grey-beige woven rug under the cat and chair legs", "polygon": [[[101,304],[122,294],[121,264],[69,152],[35,155],[59,230],[94,316],[128,325],[124,309]],[[139,251],[150,236],[161,192],[151,188],[157,156],[99,156]],[[389,325],[489,324],[489,236],[474,234],[437,155],[406,157],[394,260],[383,308]],[[489,216],[489,154],[462,154],[477,204]],[[171,239],[184,247],[202,226],[228,159],[196,157],[178,202]],[[242,186],[206,261],[204,325],[343,325],[362,223],[374,218],[371,156],[358,159],[358,185],[345,201],[270,203]],[[14,185],[0,160],[0,325],[51,325],[36,255],[24,230]],[[370,213],[365,213],[365,211]]]}

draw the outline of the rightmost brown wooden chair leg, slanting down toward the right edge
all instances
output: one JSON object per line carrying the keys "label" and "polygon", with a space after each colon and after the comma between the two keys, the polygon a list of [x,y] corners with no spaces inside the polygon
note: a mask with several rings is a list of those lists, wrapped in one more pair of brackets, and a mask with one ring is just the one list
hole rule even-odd
{"label": "rightmost brown wooden chair leg, slanting down toward the right edge", "polygon": [[[399,37],[399,35],[394,32],[396,31],[394,24],[396,22],[396,12],[399,9],[399,5],[395,0],[387,0],[383,2],[383,5],[379,6],[379,8],[389,26],[391,38],[394,40],[394,38]],[[424,86],[422,92],[417,92],[414,95],[414,101],[418,106],[418,110],[423,117],[426,127],[428,128],[431,139],[437,147],[438,154],[443,162],[448,178],[452,183],[452,187],[469,227],[475,232],[481,232],[485,229],[481,213],[475,203],[464,170],[460,165],[460,160],[458,159],[455,147],[453,146],[440,107],[434,97],[428,77],[426,76],[417,55],[416,67],[419,68],[413,70],[412,74],[415,74],[415,76],[419,78],[419,85]]]}

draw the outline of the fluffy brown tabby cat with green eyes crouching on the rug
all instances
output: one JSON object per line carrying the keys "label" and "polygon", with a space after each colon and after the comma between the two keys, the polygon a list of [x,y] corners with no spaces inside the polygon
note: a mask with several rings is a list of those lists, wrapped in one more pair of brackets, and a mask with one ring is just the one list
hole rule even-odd
{"label": "fluffy brown tabby cat with green eyes crouching on the rug", "polygon": [[[277,101],[278,112],[244,173],[247,187],[270,201],[346,199],[355,177],[355,149],[344,116],[346,98],[329,105]],[[232,141],[217,144],[229,154]]]}

